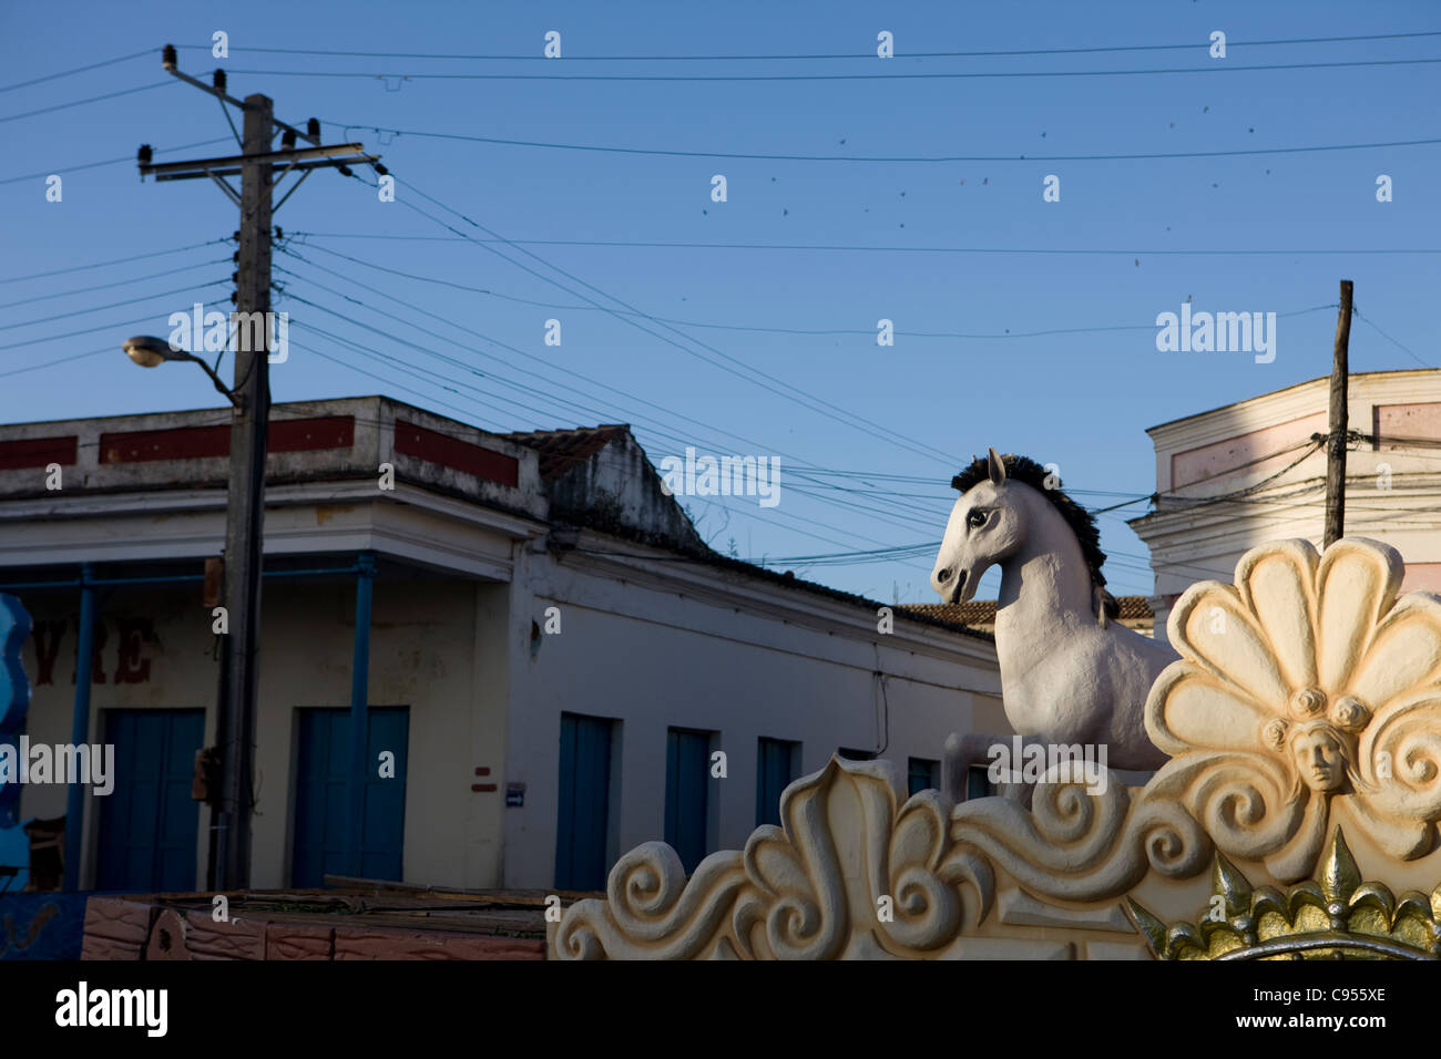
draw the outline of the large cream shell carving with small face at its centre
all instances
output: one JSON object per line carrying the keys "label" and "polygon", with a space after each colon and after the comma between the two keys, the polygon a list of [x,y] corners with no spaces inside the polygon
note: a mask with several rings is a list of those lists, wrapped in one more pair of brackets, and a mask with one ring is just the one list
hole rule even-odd
{"label": "large cream shell carving with small face at its centre", "polygon": [[1172,761],[1148,795],[1180,800],[1229,856],[1310,875],[1330,800],[1347,797],[1382,849],[1429,852],[1441,820],[1441,596],[1398,598],[1389,546],[1346,537],[1254,548],[1235,585],[1182,595],[1182,660],[1146,703]]}

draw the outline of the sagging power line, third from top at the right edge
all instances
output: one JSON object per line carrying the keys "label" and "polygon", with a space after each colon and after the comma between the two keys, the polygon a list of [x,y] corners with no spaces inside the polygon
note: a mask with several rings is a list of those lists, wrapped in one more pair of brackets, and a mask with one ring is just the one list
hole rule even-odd
{"label": "sagging power line, third from top at the right edge", "polygon": [[1355,144],[1316,144],[1311,147],[1249,147],[1244,150],[1226,151],[1144,151],[1128,154],[922,154],[922,156],[878,156],[878,154],[759,154],[751,151],[682,151],[660,147],[611,147],[604,144],[563,144],[542,140],[504,140],[488,135],[464,135],[460,133],[427,133],[414,128],[383,128],[380,125],[356,125],[349,122],[329,121],[344,131],[350,130],[373,131],[389,135],[412,135],[425,140],[460,140],[464,143],[496,144],[500,147],[540,147],[555,151],[597,151],[602,154],[641,154],[669,158],[732,158],[739,161],[855,161],[855,163],[904,163],[904,164],[950,164],[958,161],[1143,161],[1164,158],[1235,158],[1259,154],[1313,154],[1319,151],[1359,151],[1370,148],[1391,147],[1424,147],[1441,143],[1441,138],[1429,140],[1392,140],[1385,143],[1355,143]]}

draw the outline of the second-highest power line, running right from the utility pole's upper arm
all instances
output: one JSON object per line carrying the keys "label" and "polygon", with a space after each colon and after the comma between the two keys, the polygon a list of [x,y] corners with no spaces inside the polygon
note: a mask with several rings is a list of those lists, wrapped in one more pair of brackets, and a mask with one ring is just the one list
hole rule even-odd
{"label": "second-highest power line, running right from the utility pole's upper arm", "polygon": [[[552,61],[561,62],[561,61]],[[1274,62],[1239,66],[1218,62],[1210,66],[1172,66],[1107,71],[989,71],[931,73],[369,73],[365,71],[232,69],[267,78],[363,78],[366,81],[657,81],[657,82],[742,82],[742,81],[976,81],[994,78],[1124,78],[1166,73],[1252,73],[1281,69],[1346,69],[1362,66],[1422,66],[1441,59],[1352,59],[1346,62]]]}

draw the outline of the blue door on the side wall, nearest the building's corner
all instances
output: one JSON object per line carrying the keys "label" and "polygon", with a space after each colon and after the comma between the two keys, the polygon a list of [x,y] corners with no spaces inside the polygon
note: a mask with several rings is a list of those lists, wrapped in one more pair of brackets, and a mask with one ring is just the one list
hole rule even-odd
{"label": "blue door on the side wall, nearest the building's corner", "polygon": [[556,817],[555,885],[604,890],[611,831],[610,718],[561,715],[561,810]]}

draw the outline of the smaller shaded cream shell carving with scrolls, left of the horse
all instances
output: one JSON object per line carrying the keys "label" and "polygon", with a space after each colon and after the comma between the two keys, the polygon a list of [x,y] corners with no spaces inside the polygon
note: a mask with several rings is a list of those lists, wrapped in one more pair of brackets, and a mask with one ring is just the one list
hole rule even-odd
{"label": "smaller shaded cream shell carving with scrolls, left of the horse", "polygon": [[686,879],[660,841],[623,856],[607,901],[566,909],[561,960],[924,958],[954,944],[994,899],[994,875],[951,839],[951,803],[921,791],[905,804],[889,762],[831,758],[781,795],[781,827],[744,852],[712,853]]}

